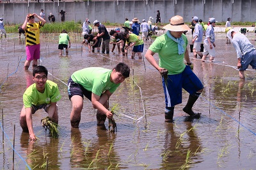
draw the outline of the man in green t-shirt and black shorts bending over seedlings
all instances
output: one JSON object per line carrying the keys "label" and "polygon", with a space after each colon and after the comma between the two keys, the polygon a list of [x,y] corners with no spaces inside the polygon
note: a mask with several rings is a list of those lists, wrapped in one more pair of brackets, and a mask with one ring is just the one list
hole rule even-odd
{"label": "man in green t-shirt and black shorts bending over seedlings", "polygon": [[129,75],[130,68],[125,63],[118,63],[113,70],[89,67],[74,72],[68,79],[68,97],[72,103],[71,127],[79,127],[84,96],[97,109],[97,125],[104,125],[107,117],[113,118],[108,110],[109,97]]}

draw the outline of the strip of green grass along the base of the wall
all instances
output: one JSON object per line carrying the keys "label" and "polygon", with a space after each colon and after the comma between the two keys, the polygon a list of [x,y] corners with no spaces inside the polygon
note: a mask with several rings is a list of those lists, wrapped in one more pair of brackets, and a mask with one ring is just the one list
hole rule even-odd
{"label": "strip of green grass along the base of the wall", "polygon": [[[74,22],[73,21],[66,21],[66,22],[54,22],[49,23],[47,22],[44,27],[40,29],[41,33],[61,33],[63,29],[65,29],[68,33],[79,33],[82,31],[82,22]],[[111,22],[103,22],[104,26],[106,27],[115,27],[115,26],[123,26],[120,23],[111,23]],[[163,26],[168,23],[163,23]],[[191,24],[190,22],[186,22],[186,24]],[[204,24],[207,24],[204,22]],[[223,26],[225,27],[226,22],[216,22],[216,26]],[[231,22],[232,26],[252,26],[255,24],[254,22]],[[11,26],[4,26],[7,33],[17,33],[19,25],[11,25]],[[93,26],[92,26],[93,27]]]}

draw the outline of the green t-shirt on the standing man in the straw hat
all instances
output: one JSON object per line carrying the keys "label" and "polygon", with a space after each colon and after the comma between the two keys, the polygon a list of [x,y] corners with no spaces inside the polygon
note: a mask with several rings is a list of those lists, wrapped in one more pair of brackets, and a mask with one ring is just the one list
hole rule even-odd
{"label": "green t-shirt on the standing man in the straw hat", "polygon": [[[188,39],[182,34],[184,40],[184,50],[188,45]],[[158,36],[156,40],[149,47],[152,52],[156,52],[159,55],[159,66],[166,68],[168,74],[178,74],[183,72],[186,65],[184,64],[184,54],[178,54],[178,44],[174,42],[167,34]]]}

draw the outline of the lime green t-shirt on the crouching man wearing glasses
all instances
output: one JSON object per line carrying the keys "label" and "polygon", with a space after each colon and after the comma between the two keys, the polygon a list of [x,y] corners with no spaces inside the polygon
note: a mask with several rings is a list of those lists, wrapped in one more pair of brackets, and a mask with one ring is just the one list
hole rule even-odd
{"label": "lime green t-shirt on the crouching man wearing glasses", "polygon": [[51,102],[58,102],[61,99],[58,85],[52,81],[46,81],[44,93],[40,93],[36,89],[36,84],[31,84],[23,94],[23,103],[25,108],[33,105],[50,104]]}

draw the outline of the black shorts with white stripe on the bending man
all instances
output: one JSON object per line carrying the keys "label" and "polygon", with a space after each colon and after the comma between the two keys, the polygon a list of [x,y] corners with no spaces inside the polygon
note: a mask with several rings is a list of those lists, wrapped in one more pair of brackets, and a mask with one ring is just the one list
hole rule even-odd
{"label": "black shorts with white stripe on the bending man", "polygon": [[92,91],[88,91],[87,89],[83,88],[80,84],[74,82],[71,77],[68,79],[68,98],[74,95],[79,95],[84,98],[88,98],[92,102]]}

